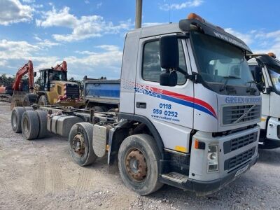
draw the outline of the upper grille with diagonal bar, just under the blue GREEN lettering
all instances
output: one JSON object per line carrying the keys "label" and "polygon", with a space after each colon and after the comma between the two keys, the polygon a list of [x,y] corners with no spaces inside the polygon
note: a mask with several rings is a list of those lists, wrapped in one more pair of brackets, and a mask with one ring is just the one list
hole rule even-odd
{"label": "upper grille with diagonal bar, just under the blue GREEN lettering", "polygon": [[[250,109],[251,111],[246,113]],[[223,125],[246,123],[258,118],[260,118],[260,105],[223,107]]]}

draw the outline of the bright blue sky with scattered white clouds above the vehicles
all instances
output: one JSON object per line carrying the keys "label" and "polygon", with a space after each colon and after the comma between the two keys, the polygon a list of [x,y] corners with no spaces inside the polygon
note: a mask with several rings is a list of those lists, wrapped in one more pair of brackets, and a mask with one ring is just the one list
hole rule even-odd
{"label": "bright blue sky with scattered white clouds above the vehicles", "polygon": [[[0,0],[0,73],[28,59],[34,69],[66,60],[69,77],[120,77],[125,33],[136,0]],[[253,52],[280,56],[280,1],[143,0],[143,25],[179,22],[197,13],[245,41]]]}

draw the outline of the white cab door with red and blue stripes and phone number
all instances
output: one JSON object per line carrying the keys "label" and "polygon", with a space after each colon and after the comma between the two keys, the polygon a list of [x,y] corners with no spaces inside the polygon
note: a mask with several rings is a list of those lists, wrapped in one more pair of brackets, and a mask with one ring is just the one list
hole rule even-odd
{"label": "white cab door with red and blue stripes and phone number", "polygon": [[[165,148],[188,153],[193,128],[193,82],[183,73],[174,87],[160,85],[160,37],[139,41],[135,114],[153,123]],[[186,40],[179,39],[179,66],[190,72]]]}

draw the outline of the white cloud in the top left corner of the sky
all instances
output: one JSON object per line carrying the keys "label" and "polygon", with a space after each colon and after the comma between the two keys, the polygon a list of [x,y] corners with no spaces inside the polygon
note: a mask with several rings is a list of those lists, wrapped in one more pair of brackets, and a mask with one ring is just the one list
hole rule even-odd
{"label": "white cloud in the top left corner of the sky", "polygon": [[32,20],[33,8],[22,5],[18,0],[0,1],[0,25],[10,25],[17,22]]}

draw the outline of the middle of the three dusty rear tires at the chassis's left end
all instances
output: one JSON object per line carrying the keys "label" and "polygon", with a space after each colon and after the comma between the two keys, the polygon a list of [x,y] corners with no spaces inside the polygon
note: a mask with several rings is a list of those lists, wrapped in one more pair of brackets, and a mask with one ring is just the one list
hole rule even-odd
{"label": "middle of the three dusty rear tires at the chassis's left end", "polygon": [[39,120],[36,111],[25,111],[22,115],[22,136],[27,140],[36,139],[39,133]]}

